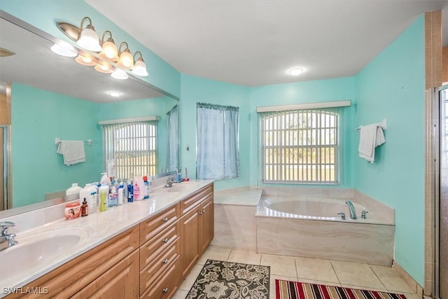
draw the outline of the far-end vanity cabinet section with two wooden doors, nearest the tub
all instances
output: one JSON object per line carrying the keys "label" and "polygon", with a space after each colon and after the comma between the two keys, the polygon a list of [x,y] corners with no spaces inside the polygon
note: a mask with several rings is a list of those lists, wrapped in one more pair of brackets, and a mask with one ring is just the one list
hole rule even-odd
{"label": "far-end vanity cabinet section with two wooden doors, nearest the tub", "polygon": [[181,266],[190,272],[214,237],[214,186],[201,188],[181,201]]}

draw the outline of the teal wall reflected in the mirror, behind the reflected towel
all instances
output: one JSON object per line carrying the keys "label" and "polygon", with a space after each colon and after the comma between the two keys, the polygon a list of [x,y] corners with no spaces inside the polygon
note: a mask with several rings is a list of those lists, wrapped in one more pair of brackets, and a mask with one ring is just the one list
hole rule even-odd
{"label": "teal wall reflected in the mirror, behind the reflected towel", "polygon": [[[101,134],[94,130],[96,106],[81,99],[12,84],[13,207],[43,200],[45,193],[66,190],[71,183],[85,186],[98,180],[102,148],[97,143]],[[56,137],[94,142],[84,147],[85,162],[66,166],[62,155],[56,153]]]}

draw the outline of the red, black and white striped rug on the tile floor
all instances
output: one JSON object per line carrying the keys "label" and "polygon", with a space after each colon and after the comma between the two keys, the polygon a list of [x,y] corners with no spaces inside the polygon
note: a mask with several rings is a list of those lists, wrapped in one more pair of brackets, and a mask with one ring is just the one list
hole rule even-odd
{"label": "red, black and white striped rug on the tile floor", "polygon": [[275,279],[276,299],[406,299],[403,294]]}

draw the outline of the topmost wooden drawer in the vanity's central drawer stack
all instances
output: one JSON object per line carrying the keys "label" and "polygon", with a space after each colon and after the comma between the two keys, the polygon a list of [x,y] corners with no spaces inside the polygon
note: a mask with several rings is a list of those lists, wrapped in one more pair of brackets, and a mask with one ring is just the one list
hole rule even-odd
{"label": "topmost wooden drawer in the vanity's central drawer stack", "polygon": [[172,225],[179,219],[180,204],[164,209],[155,216],[140,223],[140,245],[157,235],[159,232]]}

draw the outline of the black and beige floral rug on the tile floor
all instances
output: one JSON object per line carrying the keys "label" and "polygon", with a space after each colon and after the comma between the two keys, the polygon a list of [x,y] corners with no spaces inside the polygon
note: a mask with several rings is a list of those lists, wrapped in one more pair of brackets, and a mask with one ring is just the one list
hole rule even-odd
{"label": "black and beige floral rug on the tile floor", "polygon": [[269,266],[207,260],[186,299],[269,299]]}

